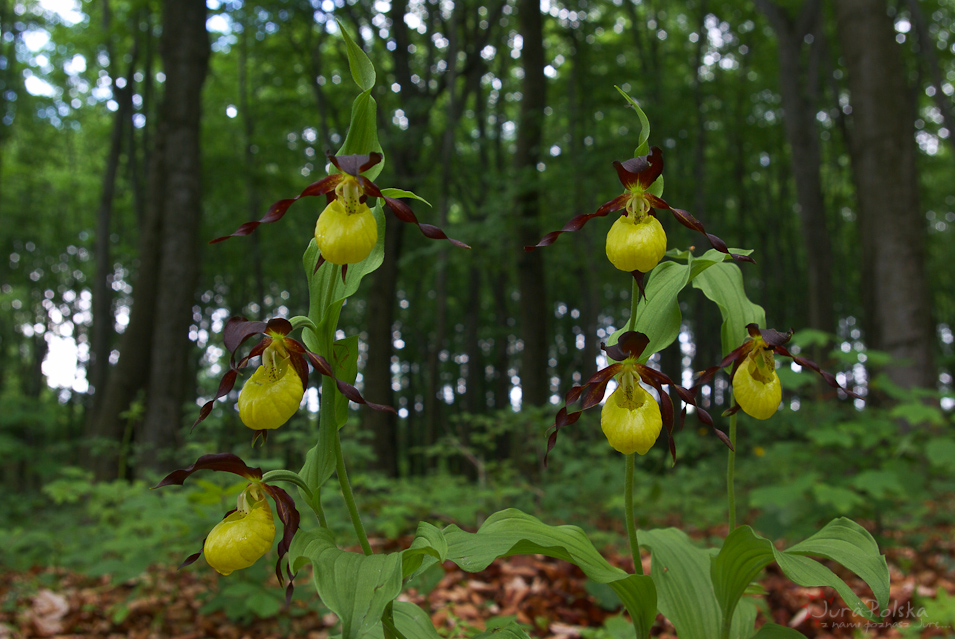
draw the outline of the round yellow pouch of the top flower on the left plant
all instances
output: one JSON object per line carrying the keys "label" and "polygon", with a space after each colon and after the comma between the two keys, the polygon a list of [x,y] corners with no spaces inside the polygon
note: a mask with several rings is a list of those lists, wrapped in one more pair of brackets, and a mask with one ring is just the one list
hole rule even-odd
{"label": "round yellow pouch of the top flower on the left plant", "polygon": [[368,257],[378,243],[378,222],[367,204],[350,213],[339,200],[325,207],[315,223],[315,242],[333,264],[354,264]]}

